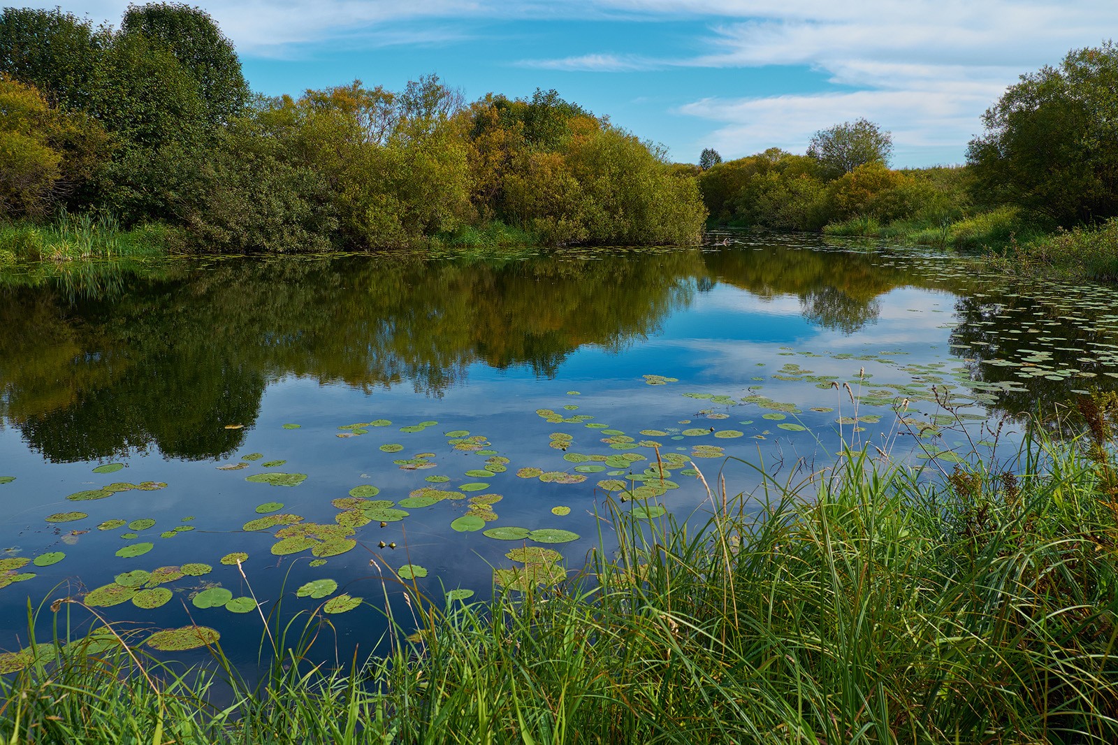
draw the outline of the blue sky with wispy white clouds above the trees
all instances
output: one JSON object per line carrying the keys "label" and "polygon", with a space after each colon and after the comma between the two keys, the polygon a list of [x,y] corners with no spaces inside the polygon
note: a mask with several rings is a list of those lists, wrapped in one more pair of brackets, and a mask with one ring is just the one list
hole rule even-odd
{"label": "blue sky with wispy white clouds above the trees", "polygon": [[[555,88],[691,163],[803,153],[859,117],[892,133],[894,167],[961,163],[1008,85],[1118,29],[1118,0],[196,2],[259,93],[433,73],[467,101]],[[60,7],[119,26],[127,0]]]}

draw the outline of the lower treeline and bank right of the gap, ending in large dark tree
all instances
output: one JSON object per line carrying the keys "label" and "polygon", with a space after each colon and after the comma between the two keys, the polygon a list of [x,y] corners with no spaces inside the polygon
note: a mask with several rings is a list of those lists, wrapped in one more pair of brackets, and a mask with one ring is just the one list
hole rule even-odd
{"label": "lower treeline and bank right of the gap, ending in large dark tree", "polygon": [[892,170],[890,133],[859,120],[817,132],[806,155],[722,162],[707,150],[699,185],[716,224],[1008,248],[1049,264],[1089,255],[1088,274],[1116,277],[1116,89],[1107,41],[1010,86],[965,166]]}

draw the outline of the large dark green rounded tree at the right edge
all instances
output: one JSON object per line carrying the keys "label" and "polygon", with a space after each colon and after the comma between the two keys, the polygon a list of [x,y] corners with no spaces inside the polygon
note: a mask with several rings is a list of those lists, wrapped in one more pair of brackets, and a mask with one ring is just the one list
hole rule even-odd
{"label": "large dark green rounded tree at the right edge", "polygon": [[1118,48],[1073,50],[1022,75],[983,116],[967,162],[975,197],[1063,226],[1118,215]]}

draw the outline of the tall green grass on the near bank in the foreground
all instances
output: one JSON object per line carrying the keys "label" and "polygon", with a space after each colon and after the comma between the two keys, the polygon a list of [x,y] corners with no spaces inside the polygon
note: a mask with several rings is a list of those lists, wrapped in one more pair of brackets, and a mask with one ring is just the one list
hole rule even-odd
{"label": "tall green grass on the near bank in the foreground", "polygon": [[[560,588],[443,605],[413,587],[423,630],[400,630],[388,658],[348,673],[284,640],[297,623],[265,636],[283,653],[257,687],[215,645],[216,678],[234,687],[220,708],[206,702],[214,678],[173,672],[139,644],[42,647],[3,679],[0,736],[1112,743],[1116,408],[1088,399],[1079,441],[1036,434],[1012,471],[960,468],[938,485],[847,453],[754,500],[712,491],[699,526],[614,504],[603,529],[619,549],[591,554]],[[533,584],[552,560],[529,556],[521,576]]]}

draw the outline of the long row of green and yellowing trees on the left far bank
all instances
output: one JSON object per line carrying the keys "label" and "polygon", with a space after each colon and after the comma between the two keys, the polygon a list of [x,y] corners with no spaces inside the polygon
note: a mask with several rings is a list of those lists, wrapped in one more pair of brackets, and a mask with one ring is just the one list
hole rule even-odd
{"label": "long row of green and yellowing trees on the left far bank", "polygon": [[691,172],[555,91],[466,104],[436,76],[254,95],[203,11],[130,6],[120,29],[0,16],[0,216],[162,223],[199,247],[438,241],[684,244]]}

